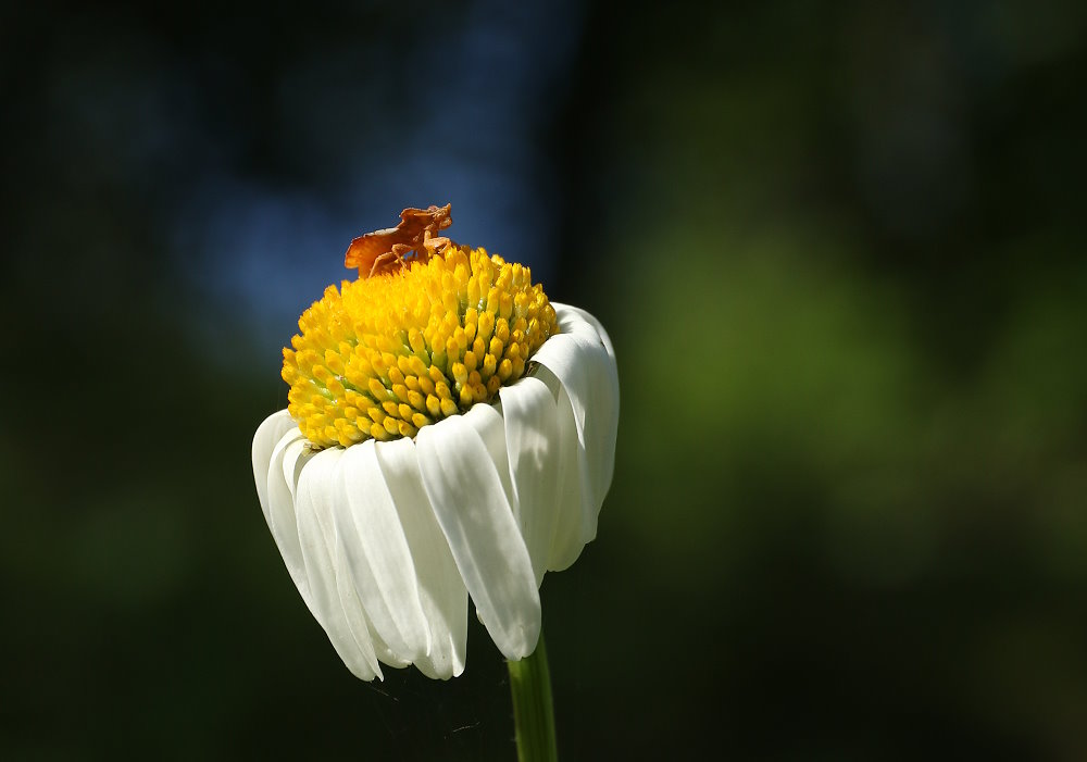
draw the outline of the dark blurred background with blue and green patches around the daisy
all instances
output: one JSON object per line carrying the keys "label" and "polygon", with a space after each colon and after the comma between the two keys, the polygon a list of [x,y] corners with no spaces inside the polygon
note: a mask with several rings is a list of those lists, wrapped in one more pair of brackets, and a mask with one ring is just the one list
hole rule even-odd
{"label": "dark blurred background with blue and green patches around the daisy", "polygon": [[620,358],[565,759],[1087,758],[1082,2],[22,5],[4,759],[513,759],[475,623],[350,676],[249,464],[348,241],[446,201]]}

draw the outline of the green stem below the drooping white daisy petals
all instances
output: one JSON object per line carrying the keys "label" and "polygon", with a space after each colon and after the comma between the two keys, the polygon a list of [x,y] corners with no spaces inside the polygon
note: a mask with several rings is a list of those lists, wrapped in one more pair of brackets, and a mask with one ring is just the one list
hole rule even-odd
{"label": "green stem below the drooping white daisy petals", "polygon": [[540,634],[536,650],[517,662],[508,662],[513,694],[513,723],[517,728],[518,762],[558,762],[554,709],[547,647]]}

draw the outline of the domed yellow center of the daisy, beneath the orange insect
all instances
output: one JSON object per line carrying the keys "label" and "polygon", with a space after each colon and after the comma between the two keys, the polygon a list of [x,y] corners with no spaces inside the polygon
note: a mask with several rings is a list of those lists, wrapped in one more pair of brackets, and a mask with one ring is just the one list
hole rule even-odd
{"label": "domed yellow center of the daisy, beneath the orange insect", "polygon": [[287,410],[316,447],[414,436],[490,401],[559,330],[528,267],[450,246],[325,289],[283,350]]}

